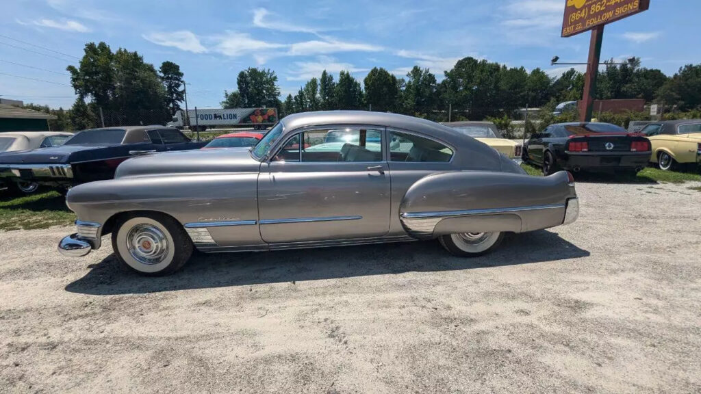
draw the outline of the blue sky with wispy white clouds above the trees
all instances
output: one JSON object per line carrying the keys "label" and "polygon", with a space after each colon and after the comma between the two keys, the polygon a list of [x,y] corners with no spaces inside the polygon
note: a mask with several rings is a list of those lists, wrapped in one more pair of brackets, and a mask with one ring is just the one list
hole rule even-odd
{"label": "blue sky with wispy white clouds above the trees", "polygon": [[[273,69],[283,97],[322,69],[362,80],[372,67],[403,76],[418,64],[440,79],[465,56],[555,76],[563,70],[550,66],[553,55],[583,62],[589,45],[588,32],[560,38],[565,3],[4,0],[0,97],[70,107],[75,96],[64,70],[88,41],[137,50],[156,67],[176,62],[190,107],[217,107],[246,67]],[[649,11],[606,27],[602,58],[634,55],[667,74],[700,63],[698,15],[701,1],[652,0]]]}

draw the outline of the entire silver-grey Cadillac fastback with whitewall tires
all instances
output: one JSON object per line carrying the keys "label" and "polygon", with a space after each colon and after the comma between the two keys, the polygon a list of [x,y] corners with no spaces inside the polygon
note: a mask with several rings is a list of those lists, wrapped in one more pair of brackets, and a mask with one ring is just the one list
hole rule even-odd
{"label": "entire silver-grey Cadillac fastback with whitewall tires", "polygon": [[153,154],[115,179],[69,191],[81,257],[111,233],[118,259],[172,273],[202,252],[431,240],[457,255],[493,250],[505,232],[574,222],[569,172],[530,177],[447,126],[409,116],[328,111],[287,116],[255,147]]}

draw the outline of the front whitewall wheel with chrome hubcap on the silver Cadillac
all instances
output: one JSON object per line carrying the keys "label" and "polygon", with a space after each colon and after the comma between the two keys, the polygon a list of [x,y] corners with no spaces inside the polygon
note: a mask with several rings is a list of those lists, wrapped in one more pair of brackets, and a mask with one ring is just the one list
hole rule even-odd
{"label": "front whitewall wheel with chrome hubcap on the silver Cadillac", "polygon": [[147,213],[123,217],[112,231],[112,249],[119,261],[146,276],[164,276],[190,258],[192,242],[172,217]]}

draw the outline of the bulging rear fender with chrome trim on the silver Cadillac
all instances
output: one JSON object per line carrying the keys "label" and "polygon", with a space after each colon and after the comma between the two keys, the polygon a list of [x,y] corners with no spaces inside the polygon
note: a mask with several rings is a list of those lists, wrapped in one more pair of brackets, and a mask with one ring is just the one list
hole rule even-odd
{"label": "bulging rear fender with chrome trim on the silver Cadillac", "polygon": [[462,171],[429,175],[402,199],[404,230],[418,239],[449,233],[511,231],[559,226],[576,198],[566,172],[549,177]]}

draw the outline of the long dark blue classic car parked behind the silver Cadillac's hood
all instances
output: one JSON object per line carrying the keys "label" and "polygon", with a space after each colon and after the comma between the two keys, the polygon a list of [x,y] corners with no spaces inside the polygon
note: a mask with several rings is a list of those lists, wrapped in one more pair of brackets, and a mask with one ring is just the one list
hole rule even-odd
{"label": "long dark blue classic car parked behind the silver Cadillac's hood", "polygon": [[0,154],[0,178],[69,188],[112,179],[117,166],[135,155],[200,149],[205,144],[163,126],[83,130],[60,147]]}

